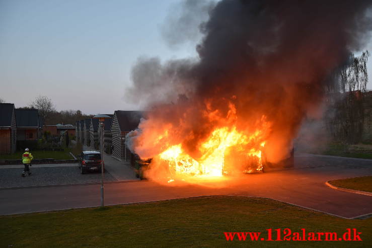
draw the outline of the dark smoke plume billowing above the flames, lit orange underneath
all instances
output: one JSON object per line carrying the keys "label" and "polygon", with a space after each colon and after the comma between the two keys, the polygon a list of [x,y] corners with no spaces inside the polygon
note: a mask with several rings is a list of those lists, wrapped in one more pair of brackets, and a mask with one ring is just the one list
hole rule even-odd
{"label": "dark smoke plume billowing above the flames, lit orange underneath", "polygon": [[[155,138],[149,134],[169,125],[175,136],[172,141],[198,158],[197,144],[226,124],[203,113],[215,111],[226,119],[232,103],[239,130],[266,116],[271,123],[267,159],[284,158],[304,117],[321,104],[326,84],[332,83],[326,79],[350,51],[359,50],[368,40],[371,19],[366,13],[371,4],[334,0],[216,3],[205,23],[195,27],[191,22],[190,29],[199,28],[202,33],[196,47],[198,59],[164,64],[142,59],[134,66],[128,95],[145,99],[151,112],[140,124],[141,130],[131,135],[132,151],[141,157],[161,152],[164,147],[153,148]],[[175,28],[172,35],[177,32],[182,31]]]}

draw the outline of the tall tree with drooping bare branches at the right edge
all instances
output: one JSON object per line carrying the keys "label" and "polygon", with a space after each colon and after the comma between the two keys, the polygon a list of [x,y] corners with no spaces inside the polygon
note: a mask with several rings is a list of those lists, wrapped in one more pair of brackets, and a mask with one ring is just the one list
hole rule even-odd
{"label": "tall tree with drooping bare branches at the right edge", "polygon": [[368,56],[368,51],[358,57],[350,54],[330,79],[326,123],[336,140],[357,143],[362,139]]}

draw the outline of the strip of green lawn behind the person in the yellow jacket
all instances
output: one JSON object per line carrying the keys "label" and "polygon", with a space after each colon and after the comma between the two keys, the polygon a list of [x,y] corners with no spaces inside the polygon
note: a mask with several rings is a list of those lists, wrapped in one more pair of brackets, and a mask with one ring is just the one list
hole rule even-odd
{"label": "strip of green lawn behind the person in the yellow jacket", "polygon": [[[34,158],[54,158],[56,160],[59,159],[73,159],[71,155],[68,153],[71,151],[70,149],[64,149],[64,151],[42,151],[42,150],[35,150],[30,151]],[[16,151],[12,154],[1,154],[0,159],[21,159],[22,154],[24,151]]]}

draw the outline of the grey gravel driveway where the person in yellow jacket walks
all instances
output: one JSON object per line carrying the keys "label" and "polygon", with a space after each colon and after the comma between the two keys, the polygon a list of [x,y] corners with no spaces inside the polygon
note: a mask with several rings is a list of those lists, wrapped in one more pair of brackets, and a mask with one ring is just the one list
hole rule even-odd
{"label": "grey gravel driveway where the person in yellow jacket walks", "polygon": [[[0,169],[0,188],[28,187],[41,185],[81,184],[101,182],[101,173],[80,174],[76,167],[31,168],[32,175],[21,177],[23,169]],[[105,171],[105,182],[116,181]]]}

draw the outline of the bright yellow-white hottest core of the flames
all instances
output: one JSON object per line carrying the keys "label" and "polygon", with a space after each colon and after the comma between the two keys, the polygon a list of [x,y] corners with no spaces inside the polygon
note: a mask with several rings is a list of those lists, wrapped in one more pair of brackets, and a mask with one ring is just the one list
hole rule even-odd
{"label": "bright yellow-white hottest core of the flames", "polygon": [[[192,176],[192,177],[221,177],[229,174],[229,169],[225,167],[225,156],[231,155],[231,147],[243,151],[244,147],[256,140],[262,132],[257,130],[250,136],[232,128],[222,127],[215,129],[209,138],[200,145],[203,154],[200,159],[195,160],[183,149],[181,144],[172,145],[159,154],[159,158],[168,164],[171,177]],[[265,141],[261,141],[259,148],[252,147],[246,152],[247,159],[253,159],[256,164],[256,171],[261,171],[262,149]],[[252,173],[254,170],[245,170],[245,173]],[[172,178],[169,182],[173,182]]]}

